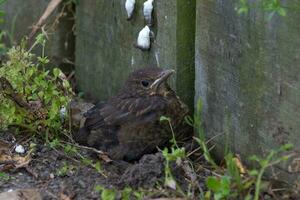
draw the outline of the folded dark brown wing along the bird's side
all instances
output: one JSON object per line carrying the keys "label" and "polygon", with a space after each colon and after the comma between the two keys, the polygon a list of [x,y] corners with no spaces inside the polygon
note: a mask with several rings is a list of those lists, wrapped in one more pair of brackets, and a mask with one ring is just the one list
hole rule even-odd
{"label": "folded dark brown wing along the bird's side", "polygon": [[160,117],[166,102],[159,97],[116,99],[99,104],[86,113],[85,127],[98,129],[124,123],[147,123]]}

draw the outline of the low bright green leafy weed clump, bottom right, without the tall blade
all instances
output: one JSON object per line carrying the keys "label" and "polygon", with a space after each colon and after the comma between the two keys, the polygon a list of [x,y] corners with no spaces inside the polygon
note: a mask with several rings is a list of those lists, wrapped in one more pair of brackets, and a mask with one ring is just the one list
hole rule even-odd
{"label": "low bright green leafy weed clump, bottom right, without the tall blade", "polygon": [[[213,193],[215,200],[240,198],[259,200],[262,177],[266,169],[289,159],[289,156],[281,154],[291,148],[292,146],[287,144],[277,150],[271,150],[265,158],[251,156],[250,160],[257,162],[259,167],[249,170],[249,173],[241,173],[241,166],[238,166],[237,159],[232,154],[227,154],[223,175],[209,176],[206,179],[206,186],[209,189],[206,196]],[[254,197],[251,193],[253,188],[255,188]]]}

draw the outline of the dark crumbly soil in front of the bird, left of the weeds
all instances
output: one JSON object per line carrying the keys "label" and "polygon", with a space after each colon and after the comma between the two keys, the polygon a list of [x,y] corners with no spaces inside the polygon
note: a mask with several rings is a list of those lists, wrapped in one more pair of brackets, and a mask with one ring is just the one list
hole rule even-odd
{"label": "dark crumbly soil in front of the bird, left of the weeds", "polygon": [[[14,139],[12,134],[0,133],[0,139],[11,143],[10,152],[14,152],[15,144],[22,144],[28,151],[30,141]],[[16,142],[24,141],[24,142]],[[35,141],[35,150],[31,153],[30,162],[20,168],[5,171],[9,179],[0,178],[0,193],[17,189],[37,189],[43,199],[99,199],[95,186],[123,189],[150,189],[163,185],[164,158],[160,152],[144,155],[135,163],[125,161],[101,161],[102,173],[81,162],[76,156],[70,156],[63,149],[53,149],[49,145]],[[25,153],[26,154],[26,153]],[[93,161],[99,161],[98,156],[87,150],[80,149],[80,154]],[[3,165],[3,163],[2,163]],[[65,173],[60,173],[64,166]],[[3,166],[2,166],[3,167]],[[1,163],[0,163],[1,169]],[[175,176],[184,182],[184,171],[176,165],[172,166]],[[152,197],[164,197],[154,192]],[[68,198],[66,198],[68,197]]]}

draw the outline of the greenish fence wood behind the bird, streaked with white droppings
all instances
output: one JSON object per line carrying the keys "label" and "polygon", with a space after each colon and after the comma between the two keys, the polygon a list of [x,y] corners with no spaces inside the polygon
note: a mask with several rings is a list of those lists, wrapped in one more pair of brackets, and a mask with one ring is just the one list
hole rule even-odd
{"label": "greenish fence wood behind the bird, streaked with white droppings", "polygon": [[[181,7],[178,7],[181,1],[155,1],[152,27],[155,40],[148,52],[133,46],[145,26],[143,3],[136,1],[133,18],[127,21],[125,0],[79,1],[76,71],[80,90],[87,96],[107,99],[134,69],[159,66],[177,70],[172,84],[183,100],[192,105],[195,1],[188,0]],[[190,15],[181,19],[187,9]]]}

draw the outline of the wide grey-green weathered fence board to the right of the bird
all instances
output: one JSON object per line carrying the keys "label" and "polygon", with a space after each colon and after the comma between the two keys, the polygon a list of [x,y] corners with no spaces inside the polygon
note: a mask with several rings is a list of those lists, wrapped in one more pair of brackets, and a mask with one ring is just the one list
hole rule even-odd
{"label": "wide grey-green weathered fence board to the right of the bird", "polygon": [[[293,8],[298,1],[285,2]],[[237,14],[235,3],[197,1],[196,100],[208,137],[221,134],[218,155],[228,146],[245,159],[284,143],[299,151],[300,12],[268,20],[262,10]],[[280,170],[298,187],[299,157],[291,161],[298,168],[290,162]]]}

